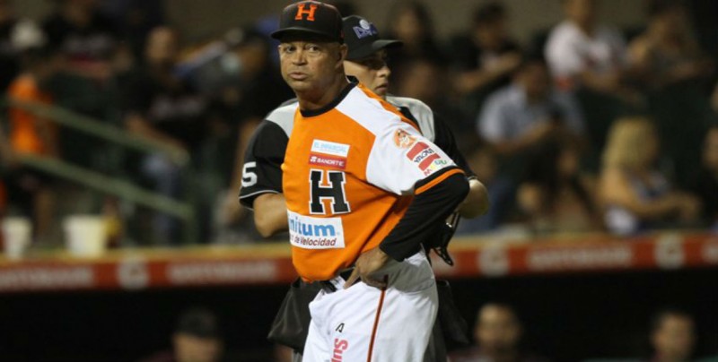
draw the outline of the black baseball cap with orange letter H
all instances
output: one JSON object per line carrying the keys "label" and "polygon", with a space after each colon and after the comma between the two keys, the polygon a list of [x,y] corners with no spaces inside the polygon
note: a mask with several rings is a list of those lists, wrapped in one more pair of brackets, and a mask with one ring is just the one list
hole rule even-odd
{"label": "black baseball cap with orange letter H", "polygon": [[344,41],[342,15],[333,5],[318,1],[290,4],[282,11],[279,30],[271,36],[282,40],[287,34],[314,35],[341,43]]}

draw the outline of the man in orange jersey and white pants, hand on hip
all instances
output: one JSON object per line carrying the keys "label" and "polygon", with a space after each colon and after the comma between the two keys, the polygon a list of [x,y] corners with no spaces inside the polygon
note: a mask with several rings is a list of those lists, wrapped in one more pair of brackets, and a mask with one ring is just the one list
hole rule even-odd
{"label": "man in orange jersey and white pants, hand on hip", "polygon": [[347,82],[341,29],[336,8],[304,1],[272,34],[299,101],[283,164],[287,213],[305,226],[290,229],[293,264],[326,285],[304,359],[421,361],[438,298],[420,244],[468,181],[396,107]]}

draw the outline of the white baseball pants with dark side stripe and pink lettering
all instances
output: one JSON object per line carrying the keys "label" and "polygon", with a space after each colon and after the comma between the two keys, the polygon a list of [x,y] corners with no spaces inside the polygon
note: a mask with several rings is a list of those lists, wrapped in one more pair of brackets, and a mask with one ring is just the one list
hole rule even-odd
{"label": "white baseball pants with dark side stripe and pink lettering", "polygon": [[304,362],[421,362],[438,310],[436,282],[424,252],[376,271],[384,290],[358,282],[322,290],[310,304]]}

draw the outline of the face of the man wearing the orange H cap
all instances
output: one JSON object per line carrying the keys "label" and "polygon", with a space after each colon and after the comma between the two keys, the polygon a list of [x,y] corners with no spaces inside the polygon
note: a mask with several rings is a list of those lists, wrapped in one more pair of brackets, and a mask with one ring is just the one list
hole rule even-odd
{"label": "face of the man wearing the orange H cap", "polygon": [[296,93],[322,94],[334,82],[345,49],[336,42],[283,39],[279,45],[282,77]]}

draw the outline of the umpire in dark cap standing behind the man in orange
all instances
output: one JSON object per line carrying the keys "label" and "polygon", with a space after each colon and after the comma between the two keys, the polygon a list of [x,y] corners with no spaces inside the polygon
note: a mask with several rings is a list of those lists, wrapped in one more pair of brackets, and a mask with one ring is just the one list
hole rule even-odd
{"label": "umpire in dark cap standing behind the man in orange", "polygon": [[[382,39],[372,22],[361,16],[347,16],[343,20],[343,26],[344,41],[348,47],[344,62],[346,75],[353,81],[363,83],[382,99],[396,106],[399,112],[418,126],[427,139],[446,152],[467,175],[472,176],[469,177],[469,194],[458,209],[461,217],[473,218],[486,212],[486,188],[473,177],[473,171],[458,150],[453,134],[441,116],[434,114],[431,108],[418,99],[387,94],[391,74],[386,63],[387,50],[400,47],[401,42]],[[288,228],[280,166],[285,159],[286,144],[293,128],[293,115],[298,107],[297,100],[291,99],[270,112],[252,135],[244,152],[240,201],[245,207],[253,209],[255,225],[264,237],[275,236]],[[402,140],[408,139],[405,137]],[[451,230],[442,228],[441,232],[426,240],[425,247],[434,248],[447,242],[449,237]],[[445,248],[445,244],[442,244],[441,248]],[[437,253],[441,251],[437,250]],[[446,361],[444,339],[455,345],[468,343],[468,337],[460,338],[461,335],[467,335],[466,324],[463,319],[457,319],[459,312],[451,306],[451,289],[448,283],[443,281],[437,284],[440,284],[440,299],[445,300],[443,303],[446,305],[440,308],[434,323],[433,336],[424,356],[425,362]],[[285,303],[278,311],[269,333],[269,340],[293,348],[293,361],[302,361],[302,349],[310,323],[308,305],[319,291],[319,283],[312,285],[296,280],[289,289]],[[449,330],[444,330],[446,327],[449,327]]]}

